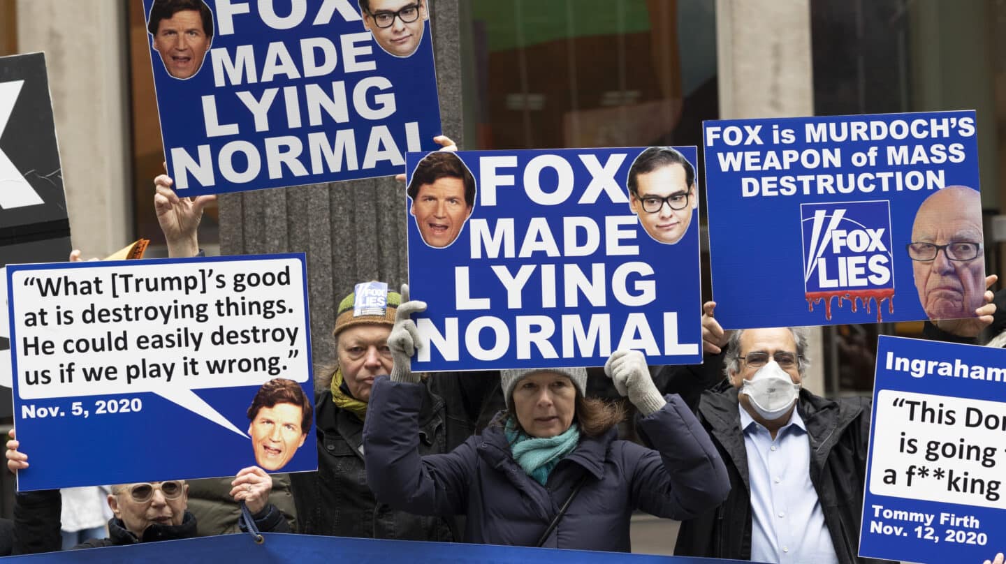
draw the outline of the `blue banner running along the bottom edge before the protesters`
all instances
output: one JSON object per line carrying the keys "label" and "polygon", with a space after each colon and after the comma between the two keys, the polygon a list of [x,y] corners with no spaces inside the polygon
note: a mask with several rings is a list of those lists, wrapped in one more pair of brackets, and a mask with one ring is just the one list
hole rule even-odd
{"label": "blue banner running along the bottom edge before the protesters", "polygon": [[[723,564],[740,560],[716,558],[690,558],[686,556],[654,556],[591,552],[585,550],[556,550],[515,546],[468,545],[459,543],[430,543],[420,541],[384,541],[350,539],[343,537],[317,537],[313,535],[263,535],[265,542],[256,544],[249,535],[223,535],[201,537],[183,541],[161,541],[132,546],[93,548],[14,556],[4,562],[31,562],[41,564],[66,562],[116,564],[119,562],[148,562],[176,564],[178,562],[492,562],[494,564],[576,564],[593,563],[663,563],[663,564]],[[746,560],[745,564],[750,564]]]}

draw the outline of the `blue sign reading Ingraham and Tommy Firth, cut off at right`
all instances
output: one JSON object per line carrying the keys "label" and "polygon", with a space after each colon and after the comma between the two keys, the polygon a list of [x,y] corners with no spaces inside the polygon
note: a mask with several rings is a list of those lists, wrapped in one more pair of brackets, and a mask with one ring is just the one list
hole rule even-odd
{"label": "blue sign reading Ingraham and Tommy Firth, cut off at right", "polygon": [[1002,551],[1006,350],[881,336],[859,554],[982,562]]}

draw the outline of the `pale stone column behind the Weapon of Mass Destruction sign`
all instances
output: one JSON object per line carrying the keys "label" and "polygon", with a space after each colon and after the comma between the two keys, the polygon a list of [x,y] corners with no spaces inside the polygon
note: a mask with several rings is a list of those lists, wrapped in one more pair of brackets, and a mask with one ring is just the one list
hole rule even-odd
{"label": "pale stone column behind the Weapon of Mass Destruction sign", "polygon": [[[809,0],[716,0],[719,117],[814,115]],[[805,386],[824,393],[821,328],[810,331],[814,361]]]}

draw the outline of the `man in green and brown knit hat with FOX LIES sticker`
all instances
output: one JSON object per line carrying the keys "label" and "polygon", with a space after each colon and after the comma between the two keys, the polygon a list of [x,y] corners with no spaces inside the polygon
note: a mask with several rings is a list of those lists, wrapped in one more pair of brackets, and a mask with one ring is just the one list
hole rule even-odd
{"label": "man in green and brown knit hat with FOX LIES sticker", "polygon": [[[363,463],[363,421],[370,387],[378,375],[391,374],[393,360],[387,340],[399,308],[422,311],[379,281],[361,283],[340,303],[335,319],[336,362],[318,372],[331,376],[315,404],[318,431],[318,472],[292,475],[301,533],[407,539],[459,540],[453,518],[416,516],[393,511],[374,500]],[[420,449],[424,454],[450,452],[476,429],[483,403],[500,396],[499,375],[440,373],[423,380]]]}

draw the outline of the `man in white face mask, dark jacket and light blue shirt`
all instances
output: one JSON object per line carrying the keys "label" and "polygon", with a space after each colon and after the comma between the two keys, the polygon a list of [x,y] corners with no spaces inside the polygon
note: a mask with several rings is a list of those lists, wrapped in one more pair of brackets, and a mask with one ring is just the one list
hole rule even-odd
{"label": "man in white face mask, dark jacket and light blue shirt", "polygon": [[[680,393],[696,410],[731,486],[722,505],[681,524],[674,554],[884,562],[857,556],[869,398],[832,401],[803,389],[803,330],[727,335],[712,317],[714,306],[706,304],[702,316],[705,363],[668,367],[655,378],[661,392]],[[713,385],[724,373],[726,380]]]}

